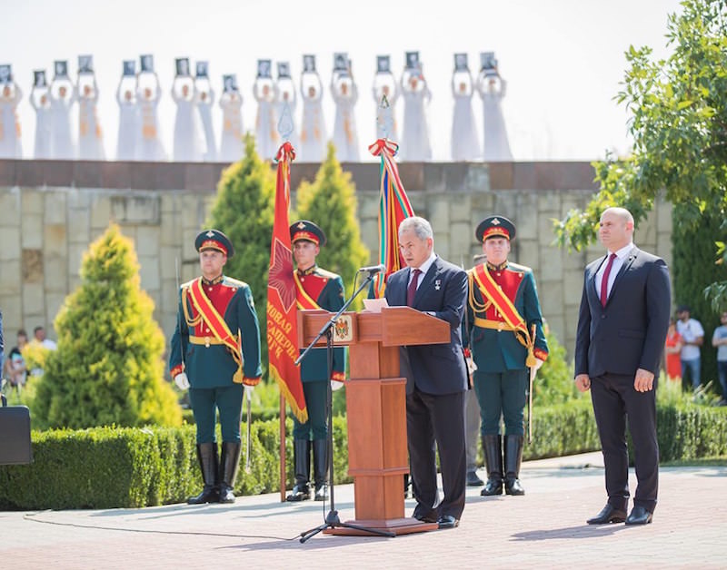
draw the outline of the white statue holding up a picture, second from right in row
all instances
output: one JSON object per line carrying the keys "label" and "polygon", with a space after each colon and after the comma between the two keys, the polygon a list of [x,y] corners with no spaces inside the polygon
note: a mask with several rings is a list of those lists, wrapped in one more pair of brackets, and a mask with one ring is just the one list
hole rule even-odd
{"label": "white statue holding up a picture, second from right in row", "polygon": [[455,54],[452,75],[454,111],[451,148],[453,161],[476,161],[482,156],[480,140],[474,123],[473,93],[473,79],[467,65],[467,54]]}

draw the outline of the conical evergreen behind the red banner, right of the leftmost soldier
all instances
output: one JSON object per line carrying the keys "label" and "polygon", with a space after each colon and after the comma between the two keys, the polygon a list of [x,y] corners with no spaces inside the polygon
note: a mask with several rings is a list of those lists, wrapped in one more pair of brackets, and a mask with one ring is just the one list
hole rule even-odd
{"label": "conical evergreen behind the red banner, right of the leftmost soldier", "polygon": [[[268,162],[255,150],[254,136],[244,138],[245,154],[224,169],[207,226],[223,231],[234,246],[224,273],[244,280],[253,291],[261,339],[266,338],[267,271],[273,236],[275,176]],[[262,361],[267,362],[267,343],[261,343]],[[265,367],[264,367],[265,368]]]}

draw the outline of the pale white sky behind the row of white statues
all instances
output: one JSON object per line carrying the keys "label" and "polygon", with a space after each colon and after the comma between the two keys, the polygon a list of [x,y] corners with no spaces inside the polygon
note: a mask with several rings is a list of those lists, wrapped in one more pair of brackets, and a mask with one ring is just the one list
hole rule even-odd
{"label": "pale white sky behind the row of white statues", "polygon": [[[303,54],[315,54],[328,85],[335,52],[347,52],[352,60],[361,154],[367,157],[365,148],[375,138],[376,55],[391,55],[398,78],[404,52],[419,51],[433,95],[428,108],[433,159],[447,161],[453,54],[468,54],[476,74],[479,54],[494,51],[507,81],[503,114],[514,160],[602,159],[607,151],[624,154],[631,146],[627,113],[613,99],[627,68],[624,52],[630,45],[648,45],[654,57],[667,56],[667,15],[681,11],[676,0],[3,0],[3,5],[7,19],[0,34],[0,64],[12,64],[25,93],[18,106],[25,158],[31,157],[35,135],[35,112],[27,99],[33,70],[45,69],[50,79],[56,59],[69,61],[75,79],[77,56],[93,54],[105,151],[113,158],[115,91],[124,59],[138,62],[140,54],[154,54],[163,90],[162,137],[171,154],[175,57],[189,57],[193,66],[207,60],[217,95],[222,75],[237,74],[247,130],[254,128],[258,58],[290,62],[297,81]],[[476,94],[473,109],[482,137],[482,102]],[[396,113],[401,130],[401,98]],[[330,134],[330,92],[324,96],[324,114]],[[213,120],[219,143],[222,113],[216,104]]]}

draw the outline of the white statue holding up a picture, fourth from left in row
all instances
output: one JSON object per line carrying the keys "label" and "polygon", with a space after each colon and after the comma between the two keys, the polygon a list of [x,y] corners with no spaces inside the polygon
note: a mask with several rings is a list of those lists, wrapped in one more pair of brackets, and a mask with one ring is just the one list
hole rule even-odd
{"label": "white statue holding up a picture, fourth from left in row", "polygon": [[98,85],[91,56],[81,55],[78,62],[78,81],[75,84],[75,96],[78,99],[78,158],[103,161],[106,158],[104,135],[96,113]]}

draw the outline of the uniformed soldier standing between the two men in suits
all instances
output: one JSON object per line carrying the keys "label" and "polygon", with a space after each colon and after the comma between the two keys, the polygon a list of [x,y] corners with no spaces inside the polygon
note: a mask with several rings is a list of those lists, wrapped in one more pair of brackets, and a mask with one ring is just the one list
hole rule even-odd
{"label": "uniformed soldier standing between the two men in suits", "polygon": [[[524,495],[523,408],[529,369],[548,358],[543,316],[533,270],[507,260],[515,226],[490,216],[477,226],[486,262],[468,271],[467,334],[473,359],[473,384],[480,402],[488,479],[481,495]],[[504,423],[504,445],[500,418]],[[503,469],[504,450],[504,469]]]}

